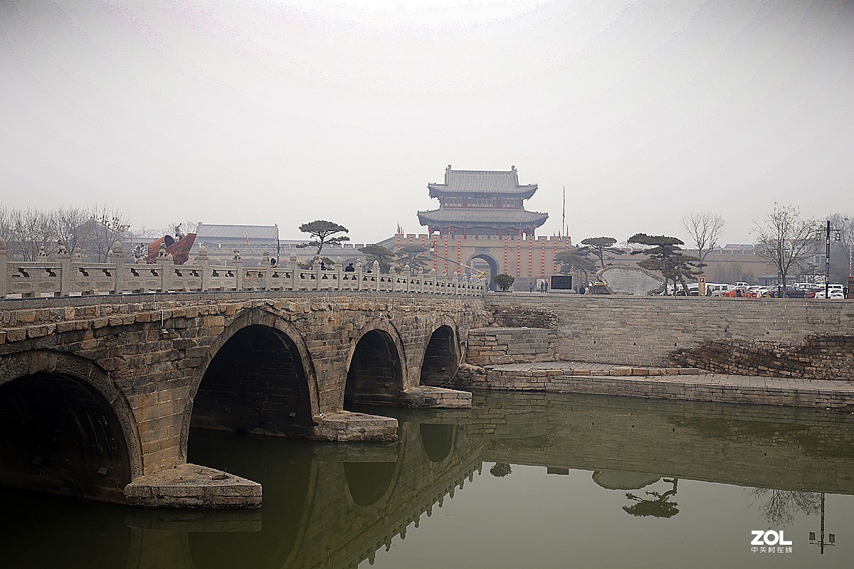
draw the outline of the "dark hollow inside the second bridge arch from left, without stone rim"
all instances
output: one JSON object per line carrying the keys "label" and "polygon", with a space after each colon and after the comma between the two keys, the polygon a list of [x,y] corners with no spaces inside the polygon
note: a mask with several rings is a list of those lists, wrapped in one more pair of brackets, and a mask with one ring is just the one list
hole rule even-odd
{"label": "dark hollow inside the second bridge arch from left, without stone rim", "polygon": [[300,437],[312,426],[308,381],[287,334],[253,325],[219,348],[193,403],[191,428]]}

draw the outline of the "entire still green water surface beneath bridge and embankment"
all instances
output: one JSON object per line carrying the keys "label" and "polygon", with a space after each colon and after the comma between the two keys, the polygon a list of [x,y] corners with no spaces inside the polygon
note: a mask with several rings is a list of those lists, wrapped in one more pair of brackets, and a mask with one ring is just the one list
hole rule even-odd
{"label": "entire still green water surface beneath bridge and embankment", "polygon": [[[474,404],[371,409],[401,421],[398,444],[191,433],[190,462],[264,485],[256,512],[0,491],[0,566],[852,566],[852,415],[520,393]],[[823,554],[809,539],[822,519],[835,541]],[[752,530],[769,529],[790,553],[752,551]]]}

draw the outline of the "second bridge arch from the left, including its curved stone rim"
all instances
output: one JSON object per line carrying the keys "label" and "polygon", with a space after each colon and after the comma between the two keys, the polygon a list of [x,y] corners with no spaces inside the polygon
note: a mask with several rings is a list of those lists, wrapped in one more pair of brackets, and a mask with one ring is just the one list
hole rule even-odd
{"label": "second bridge arch from the left, including its curved stone rim", "polygon": [[300,332],[270,312],[244,311],[213,342],[190,386],[181,457],[186,460],[190,427],[305,436],[319,414],[318,401]]}

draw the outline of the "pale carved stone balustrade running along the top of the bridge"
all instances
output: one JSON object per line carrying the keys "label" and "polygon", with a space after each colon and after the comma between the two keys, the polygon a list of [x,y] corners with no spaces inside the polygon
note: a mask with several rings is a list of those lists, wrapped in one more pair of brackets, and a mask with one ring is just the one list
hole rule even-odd
{"label": "pale carved stone balustrade running along the top of the bridge", "polygon": [[[265,254],[269,258],[269,254]],[[0,239],[0,299],[43,296],[77,296],[122,293],[205,293],[231,291],[361,291],[377,293],[420,293],[451,296],[483,296],[480,280],[437,275],[432,270],[401,272],[394,267],[381,273],[375,261],[369,268],[361,261],[354,270],[344,270],[341,258],[325,269],[319,258],[313,267],[301,269],[296,257],[286,265],[263,264],[244,267],[237,249],[231,264],[208,262],[208,250],[200,247],[193,264],[174,264],[161,246],[153,264],[127,264],[121,243],[116,241],[106,263],[88,263],[79,251],[69,253],[63,241],[52,256],[42,254],[32,262],[9,262],[6,243]]]}

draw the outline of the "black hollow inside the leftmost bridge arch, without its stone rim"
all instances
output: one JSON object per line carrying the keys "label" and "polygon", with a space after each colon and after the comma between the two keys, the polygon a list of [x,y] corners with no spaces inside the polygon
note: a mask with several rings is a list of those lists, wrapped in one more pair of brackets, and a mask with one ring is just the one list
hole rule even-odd
{"label": "black hollow inside the leftmost bridge arch, without its stone rim", "polygon": [[0,386],[0,484],[125,502],[125,435],[100,392],[55,373]]}

